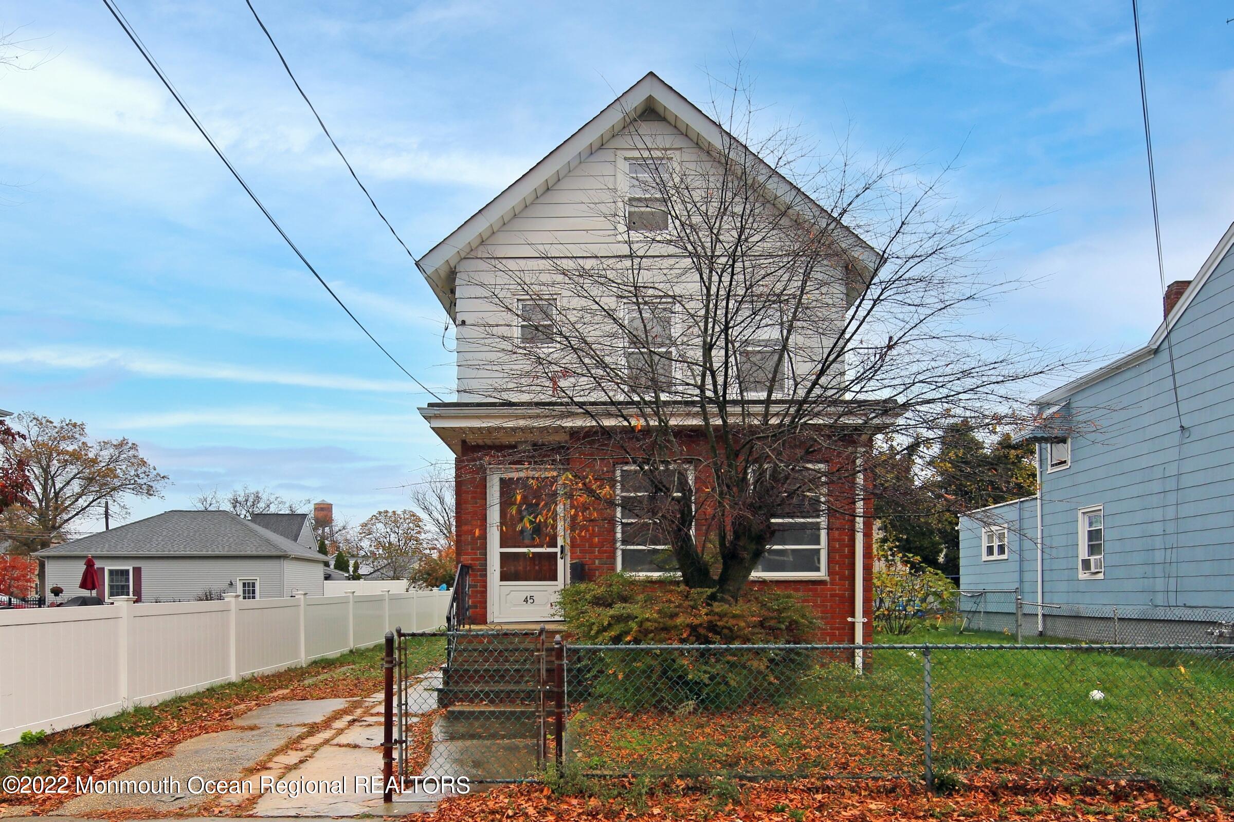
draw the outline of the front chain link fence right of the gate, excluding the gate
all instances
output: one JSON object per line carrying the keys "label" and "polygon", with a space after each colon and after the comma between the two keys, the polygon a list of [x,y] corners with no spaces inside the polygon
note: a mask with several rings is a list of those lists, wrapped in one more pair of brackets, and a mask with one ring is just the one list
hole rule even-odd
{"label": "front chain link fence right of the gate, excluding the gate", "polygon": [[569,646],[568,769],[942,780],[980,771],[1230,789],[1234,649]]}

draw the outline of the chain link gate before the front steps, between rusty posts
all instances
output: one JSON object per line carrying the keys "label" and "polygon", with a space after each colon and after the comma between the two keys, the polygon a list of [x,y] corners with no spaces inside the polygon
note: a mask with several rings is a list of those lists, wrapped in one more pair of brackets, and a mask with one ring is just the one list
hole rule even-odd
{"label": "chain link gate before the front steps, between rusty posts", "polygon": [[[445,663],[408,665],[413,643],[445,640]],[[565,647],[534,631],[405,632],[386,647],[389,773],[401,785],[538,781],[560,762]]]}

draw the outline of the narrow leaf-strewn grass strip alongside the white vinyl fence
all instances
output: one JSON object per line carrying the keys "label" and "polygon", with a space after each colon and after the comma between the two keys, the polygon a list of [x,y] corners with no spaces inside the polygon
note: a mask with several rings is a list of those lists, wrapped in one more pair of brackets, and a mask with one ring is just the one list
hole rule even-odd
{"label": "narrow leaf-strewn grass strip alongside the white vinyl fence", "polygon": [[[426,670],[444,661],[445,642],[437,637],[413,638],[408,640],[407,651],[408,670]],[[223,683],[158,705],[136,707],[37,741],[0,746],[0,778],[59,775],[67,773],[65,762],[93,760],[117,748],[141,746],[176,723],[217,721],[231,707],[269,700],[270,694],[281,689],[290,689],[286,699],[368,696],[381,688],[381,646],[363,648],[305,668]],[[0,802],[4,799],[0,795]]]}

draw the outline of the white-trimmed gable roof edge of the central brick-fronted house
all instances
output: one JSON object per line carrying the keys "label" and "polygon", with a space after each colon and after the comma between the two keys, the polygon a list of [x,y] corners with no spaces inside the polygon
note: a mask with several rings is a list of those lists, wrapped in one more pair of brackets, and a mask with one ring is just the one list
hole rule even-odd
{"label": "white-trimmed gable roof edge of the central brick-fronted house", "polygon": [[[416,261],[450,318],[454,317],[454,266],[648,110],[664,117],[703,148],[721,145],[724,142],[727,133],[714,120],[681,96],[676,89],[656,76],[654,71],[648,71],[642,80],[622,92],[603,111],[587,121],[582,128],[568,137],[564,143],[549,152],[544,159]],[[731,134],[728,138],[733,139]],[[805,207],[807,211],[814,212],[802,214],[805,219],[811,222],[833,222],[822,206],[806,196],[786,177],[765,164],[763,171],[765,173],[768,196],[772,202],[791,203],[796,211]],[[842,228],[844,227],[842,226]],[[844,251],[854,260],[863,277],[868,281],[879,255],[855,233],[847,228],[844,232],[847,245]],[[849,298],[851,299],[854,296],[850,293]]]}

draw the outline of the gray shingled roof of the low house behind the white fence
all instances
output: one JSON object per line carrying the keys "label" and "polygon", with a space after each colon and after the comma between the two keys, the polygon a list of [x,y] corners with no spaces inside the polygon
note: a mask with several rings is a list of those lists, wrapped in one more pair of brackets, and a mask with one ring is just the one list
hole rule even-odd
{"label": "gray shingled roof of the low house behind the white fence", "polygon": [[326,562],[299,542],[231,511],[164,511],[136,523],[70,540],[35,556],[47,557],[292,557]]}

